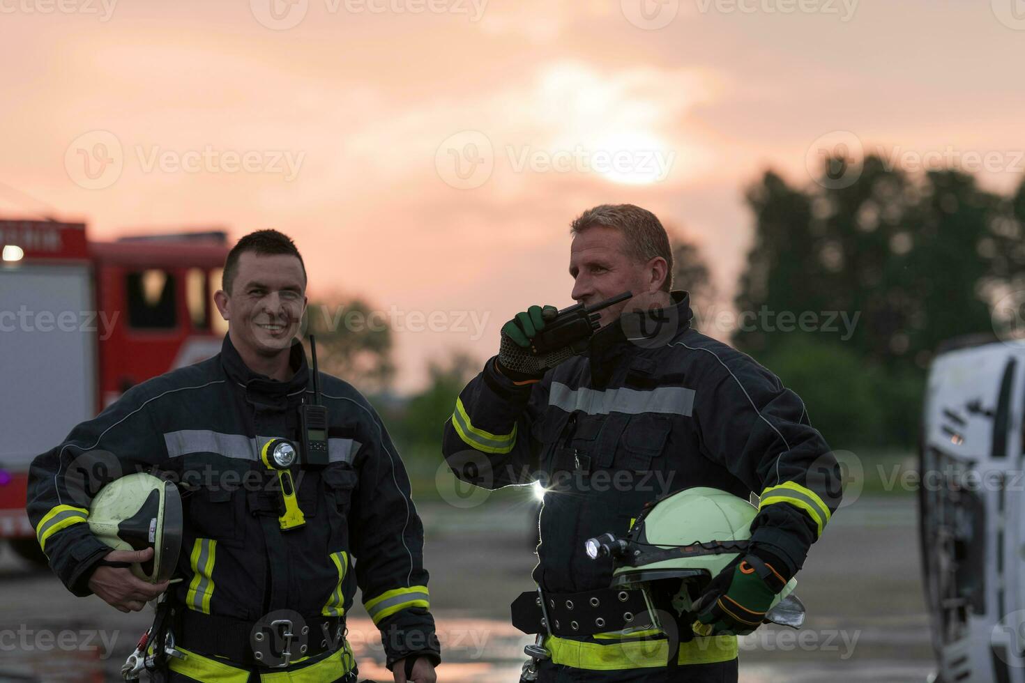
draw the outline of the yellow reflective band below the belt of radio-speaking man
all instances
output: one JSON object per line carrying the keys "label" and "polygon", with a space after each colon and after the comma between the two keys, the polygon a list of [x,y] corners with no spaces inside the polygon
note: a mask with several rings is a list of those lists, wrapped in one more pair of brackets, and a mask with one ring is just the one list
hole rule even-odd
{"label": "yellow reflective band below the belt of radio-speaking man", "polygon": [[[664,638],[606,645],[548,636],[544,647],[552,664],[590,671],[664,667],[669,657],[669,645]],[[736,636],[699,637],[680,644],[679,661],[684,665],[729,661],[737,657],[737,651]]]}

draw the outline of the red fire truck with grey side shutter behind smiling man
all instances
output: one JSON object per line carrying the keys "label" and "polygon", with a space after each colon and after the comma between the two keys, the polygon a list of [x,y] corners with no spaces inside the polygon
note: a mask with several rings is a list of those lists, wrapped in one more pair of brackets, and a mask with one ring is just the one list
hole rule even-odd
{"label": "red fire truck with grey side shutter behind smiling man", "polygon": [[84,223],[0,219],[0,539],[42,560],[29,465],[128,387],[220,350],[223,231],[89,242]]}

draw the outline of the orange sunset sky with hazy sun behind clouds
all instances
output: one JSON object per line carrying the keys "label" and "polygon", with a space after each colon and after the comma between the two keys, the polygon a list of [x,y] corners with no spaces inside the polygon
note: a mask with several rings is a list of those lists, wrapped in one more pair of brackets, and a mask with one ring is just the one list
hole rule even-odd
{"label": "orange sunset sky with hazy sun behind clouds", "polygon": [[1020,4],[0,0],[0,214],[100,240],[277,227],[314,297],[466,311],[397,334],[412,390],[427,359],[483,359],[518,310],[571,303],[589,206],[654,211],[728,302],[770,166],[811,183],[840,140],[989,155],[982,181],[1015,186]]}

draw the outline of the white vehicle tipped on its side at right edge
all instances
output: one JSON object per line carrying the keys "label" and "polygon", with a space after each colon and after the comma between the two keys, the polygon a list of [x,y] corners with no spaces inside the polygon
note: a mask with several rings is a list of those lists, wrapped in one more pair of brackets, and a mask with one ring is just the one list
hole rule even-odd
{"label": "white vehicle tipped on its side at right edge", "polygon": [[921,424],[919,530],[936,683],[1025,683],[1025,342],[939,349]]}

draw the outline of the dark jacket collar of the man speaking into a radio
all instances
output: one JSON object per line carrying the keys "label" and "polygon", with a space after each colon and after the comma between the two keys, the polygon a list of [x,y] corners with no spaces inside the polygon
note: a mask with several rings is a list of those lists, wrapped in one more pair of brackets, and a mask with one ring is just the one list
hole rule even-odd
{"label": "dark jacket collar of the man speaking into a radio", "polygon": [[594,333],[587,355],[592,365],[603,365],[630,348],[664,346],[691,327],[690,294],[670,292],[672,304],[665,308],[623,313]]}

